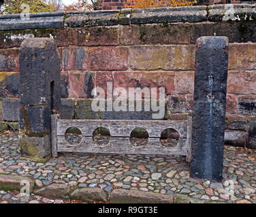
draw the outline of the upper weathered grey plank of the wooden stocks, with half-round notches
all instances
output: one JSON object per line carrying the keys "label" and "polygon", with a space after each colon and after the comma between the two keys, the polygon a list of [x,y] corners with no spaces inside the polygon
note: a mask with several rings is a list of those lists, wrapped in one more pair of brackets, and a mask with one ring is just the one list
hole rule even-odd
{"label": "upper weathered grey plank of the wooden stocks, with half-round notches", "polygon": [[112,137],[129,137],[137,127],[144,128],[149,137],[160,138],[163,130],[173,128],[178,131],[180,138],[187,137],[187,121],[142,121],[142,120],[63,120],[57,121],[57,135],[65,135],[69,127],[78,127],[83,136],[93,136],[98,127],[106,127]]}

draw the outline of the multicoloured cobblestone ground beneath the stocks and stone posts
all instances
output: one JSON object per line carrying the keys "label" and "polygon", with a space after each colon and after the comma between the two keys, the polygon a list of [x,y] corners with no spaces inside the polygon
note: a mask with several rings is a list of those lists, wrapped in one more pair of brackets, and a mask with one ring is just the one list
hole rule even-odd
{"label": "multicoloured cobblestone ground beneath the stocks and stone posts", "polygon": [[[20,158],[18,134],[0,136],[0,173],[32,176],[37,186],[64,183],[76,187],[153,191],[187,195],[220,203],[256,203],[256,153],[225,146],[223,182],[189,177],[185,157],[163,155],[103,155],[61,153],[37,163]],[[37,195],[0,191],[0,203],[79,203]]]}

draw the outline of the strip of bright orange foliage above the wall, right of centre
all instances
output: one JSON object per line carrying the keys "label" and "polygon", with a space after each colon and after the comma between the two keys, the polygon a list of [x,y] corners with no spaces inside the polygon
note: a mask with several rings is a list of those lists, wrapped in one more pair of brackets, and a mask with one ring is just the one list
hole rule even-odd
{"label": "strip of bright orange foliage above the wall, right of centre", "polygon": [[178,7],[192,6],[194,1],[187,0],[125,0],[126,8],[147,8],[147,7]]}

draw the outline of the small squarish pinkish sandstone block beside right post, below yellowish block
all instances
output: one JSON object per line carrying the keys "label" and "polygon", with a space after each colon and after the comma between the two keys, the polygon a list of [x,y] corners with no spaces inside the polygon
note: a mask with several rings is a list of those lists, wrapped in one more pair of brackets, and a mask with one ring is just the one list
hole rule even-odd
{"label": "small squarish pinkish sandstone block beside right post, below yellowish block", "polygon": [[193,71],[180,71],[175,73],[176,94],[193,94],[195,73]]}

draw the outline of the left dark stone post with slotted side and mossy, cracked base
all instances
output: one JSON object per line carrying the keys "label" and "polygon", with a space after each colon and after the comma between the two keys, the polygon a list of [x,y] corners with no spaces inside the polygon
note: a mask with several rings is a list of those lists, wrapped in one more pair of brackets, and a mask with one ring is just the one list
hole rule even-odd
{"label": "left dark stone post with slotted side and mossy, cracked base", "polygon": [[20,47],[20,154],[51,153],[50,115],[61,104],[61,60],[52,39],[31,38]]}

